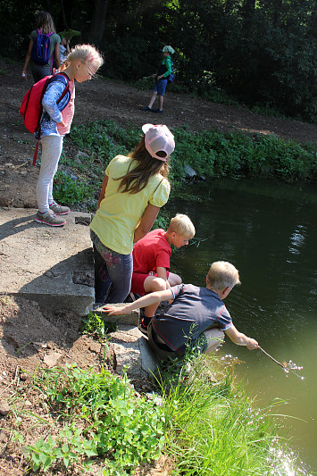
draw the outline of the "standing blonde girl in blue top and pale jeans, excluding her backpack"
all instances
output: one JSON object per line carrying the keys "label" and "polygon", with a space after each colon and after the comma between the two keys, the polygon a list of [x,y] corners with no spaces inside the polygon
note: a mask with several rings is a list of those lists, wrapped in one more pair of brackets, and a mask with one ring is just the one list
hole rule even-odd
{"label": "standing blonde girl in blue top and pale jeans, excluding her backpack", "polygon": [[[63,226],[59,215],[70,213],[68,206],[57,205],[53,198],[53,181],[63,149],[63,137],[71,129],[74,114],[75,83],[91,79],[104,60],[94,46],[77,45],[65,60],[62,73],[50,80],[42,99],[40,130],[35,134],[42,145],[41,168],[37,184],[38,213],[36,221],[50,226]],[[63,96],[64,89],[68,88]],[[63,96],[63,97],[62,97]],[[62,98],[61,98],[62,97]]]}

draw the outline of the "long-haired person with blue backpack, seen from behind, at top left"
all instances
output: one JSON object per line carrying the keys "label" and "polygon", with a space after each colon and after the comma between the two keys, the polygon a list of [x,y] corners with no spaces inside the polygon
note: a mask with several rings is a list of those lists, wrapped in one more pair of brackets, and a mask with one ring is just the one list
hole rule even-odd
{"label": "long-haired person with blue backpack, seen from behind, at top left", "polygon": [[27,66],[30,59],[34,82],[52,73],[53,58],[56,68],[60,68],[60,43],[61,38],[56,33],[51,15],[48,12],[39,12],[37,29],[33,29],[29,35],[29,48],[25,56],[22,78],[27,79]]}

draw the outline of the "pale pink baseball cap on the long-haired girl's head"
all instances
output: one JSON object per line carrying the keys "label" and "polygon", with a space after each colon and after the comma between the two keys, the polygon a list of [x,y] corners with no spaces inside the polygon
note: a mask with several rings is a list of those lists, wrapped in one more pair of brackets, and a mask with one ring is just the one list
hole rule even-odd
{"label": "pale pink baseball cap on the long-haired girl's head", "polygon": [[[171,130],[162,124],[144,124],[142,126],[143,132],[146,134],[146,150],[155,159],[166,162],[167,157],[171,155],[175,149],[174,136]],[[164,152],[165,157],[157,155],[158,152]]]}

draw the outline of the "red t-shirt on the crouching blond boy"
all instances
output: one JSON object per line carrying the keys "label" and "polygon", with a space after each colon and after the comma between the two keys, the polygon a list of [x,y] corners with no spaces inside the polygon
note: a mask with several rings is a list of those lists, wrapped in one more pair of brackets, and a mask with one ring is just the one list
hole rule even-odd
{"label": "red t-shirt on the crouching blond boy", "polygon": [[133,246],[133,272],[155,271],[158,266],[170,269],[171,245],[162,228],[150,231]]}

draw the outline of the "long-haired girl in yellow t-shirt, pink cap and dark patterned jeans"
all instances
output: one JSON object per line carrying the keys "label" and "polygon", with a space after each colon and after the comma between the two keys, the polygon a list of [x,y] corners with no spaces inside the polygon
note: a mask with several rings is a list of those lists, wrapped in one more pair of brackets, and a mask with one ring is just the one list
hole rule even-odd
{"label": "long-haired girl in yellow t-shirt, pink cap and dark patterned jeans", "polygon": [[121,303],[129,294],[133,243],[146,236],[170,195],[168,159],[175,148],[171,131],[145,124],[145,136],[128,157],[109,163],[90,225],[96,255],[96,305]]}

